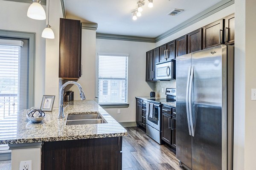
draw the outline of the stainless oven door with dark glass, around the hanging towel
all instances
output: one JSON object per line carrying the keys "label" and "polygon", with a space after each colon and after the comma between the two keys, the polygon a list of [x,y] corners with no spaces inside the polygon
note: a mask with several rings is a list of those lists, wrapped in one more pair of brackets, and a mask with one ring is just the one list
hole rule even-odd
{"label": "stainless oven door with dark glass, around the hanging towel", "polygon": [[154,104],[153,107],[153,118],[149,117],[149,114],[146,115],[147,124],[151,127],[154,127],[156,130],[160,131],[160,105]]}

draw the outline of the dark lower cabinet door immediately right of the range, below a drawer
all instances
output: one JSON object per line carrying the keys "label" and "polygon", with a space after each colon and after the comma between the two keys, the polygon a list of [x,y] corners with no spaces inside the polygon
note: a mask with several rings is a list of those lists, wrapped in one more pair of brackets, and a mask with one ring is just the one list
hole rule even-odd
{"label": "dark lower cabinet door immediately right of the range, below a drawer", "polygon": [[162,112],[162,140],[171,145],[172,130],[171,130],[172,116]]}

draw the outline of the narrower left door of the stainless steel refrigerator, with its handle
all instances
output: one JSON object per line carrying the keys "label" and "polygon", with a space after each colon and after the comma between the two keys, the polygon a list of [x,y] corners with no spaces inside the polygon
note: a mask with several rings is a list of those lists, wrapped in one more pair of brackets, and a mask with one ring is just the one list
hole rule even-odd
{"label": "narrower left door of the stainless steel refrigerator, with its handle", "polygon": [[176,156],[192,168],[191,127],[188,113],[188,80],[191,71],[191,54],[176,58]]}

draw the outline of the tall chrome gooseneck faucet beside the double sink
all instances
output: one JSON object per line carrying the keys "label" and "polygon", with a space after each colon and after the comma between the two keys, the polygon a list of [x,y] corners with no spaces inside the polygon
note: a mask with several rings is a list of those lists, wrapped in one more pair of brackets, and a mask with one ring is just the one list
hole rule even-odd
{"label": "tall chrome gooseneck faucet beside the double sink", "polygon": [[59,105],[59,114],[58,114],[58,118],[59,118],[59,119],[64,118],[64,112],[63,112],[63,94],[64,94],[64,88],[65,88],[67,85],[70,85],[70,84],[77,85],[77,87],[79,88],[79,91],[80,91],[80,97],[81,97],[81,99],[82,99],[82,100],[86,99],[86,97],[84,96],[84,91],[83,91],[81,85],[80,85],[78,82],[72,82],[72,81],[65,82],[65,83],[61,86],[61,91],[60,91],[60,105]]}

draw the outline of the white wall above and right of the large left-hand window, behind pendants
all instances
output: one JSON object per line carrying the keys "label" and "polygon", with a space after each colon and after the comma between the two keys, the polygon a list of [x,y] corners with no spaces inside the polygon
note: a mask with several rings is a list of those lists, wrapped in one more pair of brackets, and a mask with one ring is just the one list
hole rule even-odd
{"label": "white wall above and right of the large left-hand window, behind pendants", "polygon": [[[41,33],[45,20],[33,20],[26,16],[29,3],[0,0],[0,29],[36,33],[35,37],[35,106],[40,107],[44,95],[45,38]],[[45,8],[45,6],[44,6]]]}

